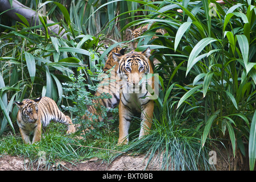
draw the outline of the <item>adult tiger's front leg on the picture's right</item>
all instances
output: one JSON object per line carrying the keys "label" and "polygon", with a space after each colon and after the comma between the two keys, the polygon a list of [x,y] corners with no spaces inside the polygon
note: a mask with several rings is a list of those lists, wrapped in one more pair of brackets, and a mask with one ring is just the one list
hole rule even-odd
{"label": "adult tiger's front leg on the picture's right", "polygon": [[141,130],[139,132],[139,139],[141,139],[144,135],[147,135],[148,131],[151,129],[153,112],[154,101],[150,100],[141,113]]}

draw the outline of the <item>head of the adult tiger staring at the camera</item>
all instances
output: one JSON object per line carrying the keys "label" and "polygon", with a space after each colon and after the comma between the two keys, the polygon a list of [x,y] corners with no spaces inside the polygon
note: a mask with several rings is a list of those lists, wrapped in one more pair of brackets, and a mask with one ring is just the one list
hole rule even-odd
{"label": "head of the adult tiger staring at the camera", "polygon": [[125,55],[113,54],[113,59],[119,62],[117,70],[122,82],[126,82],[128,88],[141,89],[142,78],[150,73],[150,48],[143,52],[131,51]]}

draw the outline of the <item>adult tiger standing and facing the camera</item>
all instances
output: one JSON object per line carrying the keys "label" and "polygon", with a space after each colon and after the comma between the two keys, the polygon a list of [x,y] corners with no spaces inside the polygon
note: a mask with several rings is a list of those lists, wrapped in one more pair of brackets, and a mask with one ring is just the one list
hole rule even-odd
{"label": "adult tiger standing and facing the camera", "polygon": [[143,52],[131,51],[125,55],[113,54],[113,59],[119,63],[117,73],[123,82],[119,102],[119,139],[118,144],[127,144],[129,127],[134,110],[141,112],[141,130],[139,138],[151,129],[154,101],[147,90],[147,84],[154,90],[154,77],[151,81],[142,78],[153,69],[149,60],[150,48]]}

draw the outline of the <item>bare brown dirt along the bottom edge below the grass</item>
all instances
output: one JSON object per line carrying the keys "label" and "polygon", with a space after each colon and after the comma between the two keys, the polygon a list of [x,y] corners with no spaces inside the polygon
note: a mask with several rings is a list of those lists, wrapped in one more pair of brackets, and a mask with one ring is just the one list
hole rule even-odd
{"label": "bare brown dirt along the bottom edge below the grass", "polygon": [[[0,155],[0,171],[159,171],[161,163],[154,162],[147,166],[147,160],[143,155],[129,156],[122,155],[115,159],[111,164],[102,162],[101,159],[92,158],[79,163],[56,162],[51,167],[32,164],[29,159],[19,158],[18,156]],[[217,154],[216,170],[232,170],[233,159],[228,158],[228,154]],[[241,170],[237,168],[238,170]]]}

